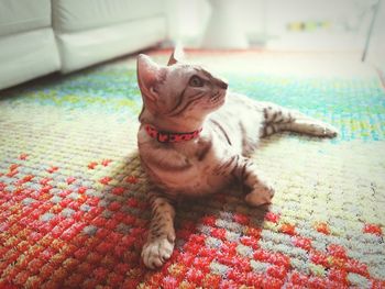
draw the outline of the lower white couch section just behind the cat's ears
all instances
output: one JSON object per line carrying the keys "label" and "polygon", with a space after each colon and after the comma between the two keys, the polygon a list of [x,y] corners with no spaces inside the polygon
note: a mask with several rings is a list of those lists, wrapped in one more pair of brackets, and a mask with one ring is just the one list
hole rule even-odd
{"label": "lower white couch section just behind the cat's ears", "polygon": [[100,29],[56,35],[62,73],[74,71],[154,45],[166,37],[166,18],[129,21]]}

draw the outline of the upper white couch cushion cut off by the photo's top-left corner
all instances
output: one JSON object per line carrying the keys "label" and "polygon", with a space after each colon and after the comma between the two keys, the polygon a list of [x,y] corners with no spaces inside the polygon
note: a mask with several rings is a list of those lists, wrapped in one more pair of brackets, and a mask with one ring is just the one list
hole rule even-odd
{"label": "upper white couch cushion cut off by the photo's top-left corner", "polygon": [[0,0],[0,36],[50,25],[50,0]]}

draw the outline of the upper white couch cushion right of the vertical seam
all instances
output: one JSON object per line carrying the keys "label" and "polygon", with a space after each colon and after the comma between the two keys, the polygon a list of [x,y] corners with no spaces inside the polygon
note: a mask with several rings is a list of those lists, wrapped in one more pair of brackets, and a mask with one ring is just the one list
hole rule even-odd
{"label": "upper white couch cushion right of the vertical seam", "polygon": [[164,0],[56,0],[54,29],[76,32],[164,13]]}

